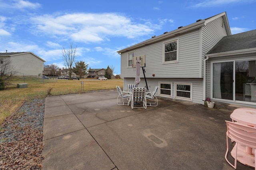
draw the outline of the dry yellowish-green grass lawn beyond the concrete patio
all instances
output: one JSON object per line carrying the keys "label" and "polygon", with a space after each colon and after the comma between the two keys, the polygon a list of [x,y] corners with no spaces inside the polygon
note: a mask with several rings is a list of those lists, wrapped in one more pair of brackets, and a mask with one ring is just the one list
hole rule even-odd
{"label": "dry yellowish-green grass lawn beyond the concrete patio", "polygon": [[[84,82],[81,85],[81,81]],[[20,82],[19,82],[20,83]],[[15,83],[14,83],[15,84]],[[22,102],[30,102],[34,98],[45,98],[47,95],[63,95],[86,93],[92,90],[116,89],[116,85],[123,87],[123,81],[115,80],[58,80],[46,84],[29,84],[28,88],[10,88],[0,92],[0,124],[14,112]]]}

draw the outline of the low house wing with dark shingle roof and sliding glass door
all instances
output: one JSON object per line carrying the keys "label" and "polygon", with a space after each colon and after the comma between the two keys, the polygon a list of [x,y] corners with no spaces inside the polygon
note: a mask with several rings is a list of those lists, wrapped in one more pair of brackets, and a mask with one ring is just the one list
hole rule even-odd
{"label": "low house wing with dark shingle roof and sliding glass door", "polygon": [[256,106],[256,29],[223,37],[206,53],[206,96]]}

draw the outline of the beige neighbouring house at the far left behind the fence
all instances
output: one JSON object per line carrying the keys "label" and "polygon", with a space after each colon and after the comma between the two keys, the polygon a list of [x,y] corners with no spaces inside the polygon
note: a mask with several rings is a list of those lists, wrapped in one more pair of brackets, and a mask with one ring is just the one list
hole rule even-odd
{"label": "beige neighbouring house at the far left behind the fence", "polygon": [[18,71],[17,76],[38,76],[44,70],[44,59],[32,52],[0,53],[0,62],[10,59],[14,69]]}

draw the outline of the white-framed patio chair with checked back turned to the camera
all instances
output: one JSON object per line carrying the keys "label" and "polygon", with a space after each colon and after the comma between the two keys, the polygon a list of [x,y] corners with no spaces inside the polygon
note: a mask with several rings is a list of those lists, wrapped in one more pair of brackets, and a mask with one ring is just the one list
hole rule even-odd
{"label": "white-framed patio chair with checked back turned to the camera", "polygon": [[[134,103],[136,102],[142,102],[142,105],[134,105]],[[135,87],[132,89],[131,107],[132,109],[139,107],[144,107],[145,109],[147,109],[146,88]]]}

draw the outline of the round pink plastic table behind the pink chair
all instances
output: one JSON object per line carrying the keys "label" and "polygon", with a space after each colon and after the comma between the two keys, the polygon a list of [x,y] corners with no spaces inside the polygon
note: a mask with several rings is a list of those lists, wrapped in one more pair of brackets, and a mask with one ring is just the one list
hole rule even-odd
{"label": "round pink plastic table behind the pink chair", "polygon": [[[234,121],[244,123],[248,126],[256,127],[256,109],[250,108],[239,108],[235,109],[230,115],[230,118]],[[237,145],[237,144],[236,144]],[[235,149],[232,149],[231,155],[235,155]],[[254,167],[254,156],[255,153],[252,152],[252,148],[244,147],[243,145],[238,145],[237,150],[237,160],[242,164]],[[234,156],[233,156],[234,157]]]}

